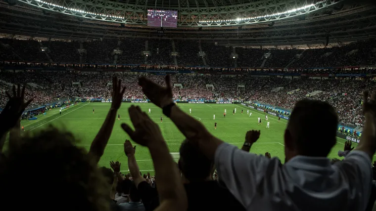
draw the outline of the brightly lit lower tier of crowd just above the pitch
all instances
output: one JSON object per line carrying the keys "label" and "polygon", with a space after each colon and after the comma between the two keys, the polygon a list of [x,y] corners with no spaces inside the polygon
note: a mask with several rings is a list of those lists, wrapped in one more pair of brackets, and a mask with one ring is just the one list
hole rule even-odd
{"label": "brightly lit lower tier of crowd just above the pitch", "polygon": [[[126,84],[125,99],[144,99],[137,82],[140,75],[116,75]],[[38,87],[28,85],[30,88],[26,91],[26,99],[34,98],[34,105],[43,105],[63,97],[110,98],[109,82],[112,76],[113,73],[90,74],[90,72],[0,72],[0,78],[7,83],[38,84]],[[147,77],[159,84],[164,84],[163,76],[150,74]],[[173,84],[182,84],[182,87],[173,88],[173,97],[181,101],[253,101],[290,110],[295,102],[309,97],[329,102],[335,107],[341,122],[358,126],[364,125],[364,117],[361,113],[361,90],[371,90],[376,87],[376,82],[372,80],[321,80],[304,77],[287,79],[250,75],[228,77],[177,74],[172,76],[172,80]],[[73,85],[72,82],[78,82],[80,85]],[[213,86],[207,87],[206,84]],[[0,108],[3,108],[6,102],[4,90],[10,90],[11,87],[1,83],[0,85],[0,90],[2,90]],[[244,87],[238,87],[238,85],[244,85]],[[283,88],[278,89],[278,87]],[[309,95],[314,91],[322,92]]]}

